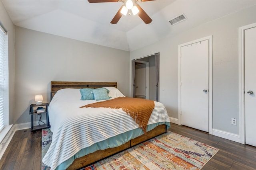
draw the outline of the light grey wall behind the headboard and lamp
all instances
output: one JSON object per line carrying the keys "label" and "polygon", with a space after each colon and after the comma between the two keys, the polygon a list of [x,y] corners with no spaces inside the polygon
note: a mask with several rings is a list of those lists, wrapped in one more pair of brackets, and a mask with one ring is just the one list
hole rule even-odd
{"label": "light grey wall behind the headboard and lamp", "polygon": [[50,102],[51,81],[117,82],[129,94],[129,52],[15,27],[15,124],[30,122],[36,94]]}

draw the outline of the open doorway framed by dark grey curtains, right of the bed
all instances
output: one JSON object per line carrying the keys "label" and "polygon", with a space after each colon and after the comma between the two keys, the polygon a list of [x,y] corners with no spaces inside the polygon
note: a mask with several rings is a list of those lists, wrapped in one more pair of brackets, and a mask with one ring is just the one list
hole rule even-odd
{"label": "open doorway framed by dark grey curtains, right of the bed", "polygon": [[[148,63],[148,76],[144,70],[145,63]],[[143,75],[144,78],[141,77]],[[132,60],[132,79],[134,98],[145,96],[146,99],[159,101],[159,53]],[[139,88],[138,84],[147,82],[146,79],[148,85],[143,84],[141,87],[144,88]]]}

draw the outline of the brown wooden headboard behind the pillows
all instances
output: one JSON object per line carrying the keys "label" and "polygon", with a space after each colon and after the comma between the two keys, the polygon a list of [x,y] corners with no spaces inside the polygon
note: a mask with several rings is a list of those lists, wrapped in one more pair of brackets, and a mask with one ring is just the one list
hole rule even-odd
{"label": "brown wooden headboard behind the pillows", "polygon": [[51,100],[54,94],[63,88],[101,88],[115,87],[117,82],[51,82]]}

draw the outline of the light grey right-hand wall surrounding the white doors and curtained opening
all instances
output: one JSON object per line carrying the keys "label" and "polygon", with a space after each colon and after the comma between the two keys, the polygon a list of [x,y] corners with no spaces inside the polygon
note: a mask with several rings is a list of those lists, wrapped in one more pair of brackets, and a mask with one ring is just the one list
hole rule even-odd
{"label": "light grey right-hand wall surrounding the white doors and curtained opening", "polygon": [[213,128],[239,134],[239,125],[231,125],[231,118],[239,119],[238,28],[255,23],[254,16],[256,6],[132,51],[130,60],[160,52],[160,102],[170,117],[178,119],[178,45],[212,35]]}

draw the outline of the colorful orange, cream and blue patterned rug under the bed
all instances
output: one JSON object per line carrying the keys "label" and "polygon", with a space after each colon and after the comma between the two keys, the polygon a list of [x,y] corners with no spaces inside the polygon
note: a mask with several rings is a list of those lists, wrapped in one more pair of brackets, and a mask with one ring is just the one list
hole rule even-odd
{"label": "colorful orange, cream and blue patterned rug under the bed", "polygon": [[[42,156],[50,141],[51,132],[43,129]],[[168,131],[81,170],[200,170],[217,152],[214,147]],[[50,167],[42,163],[42,170]]]}

